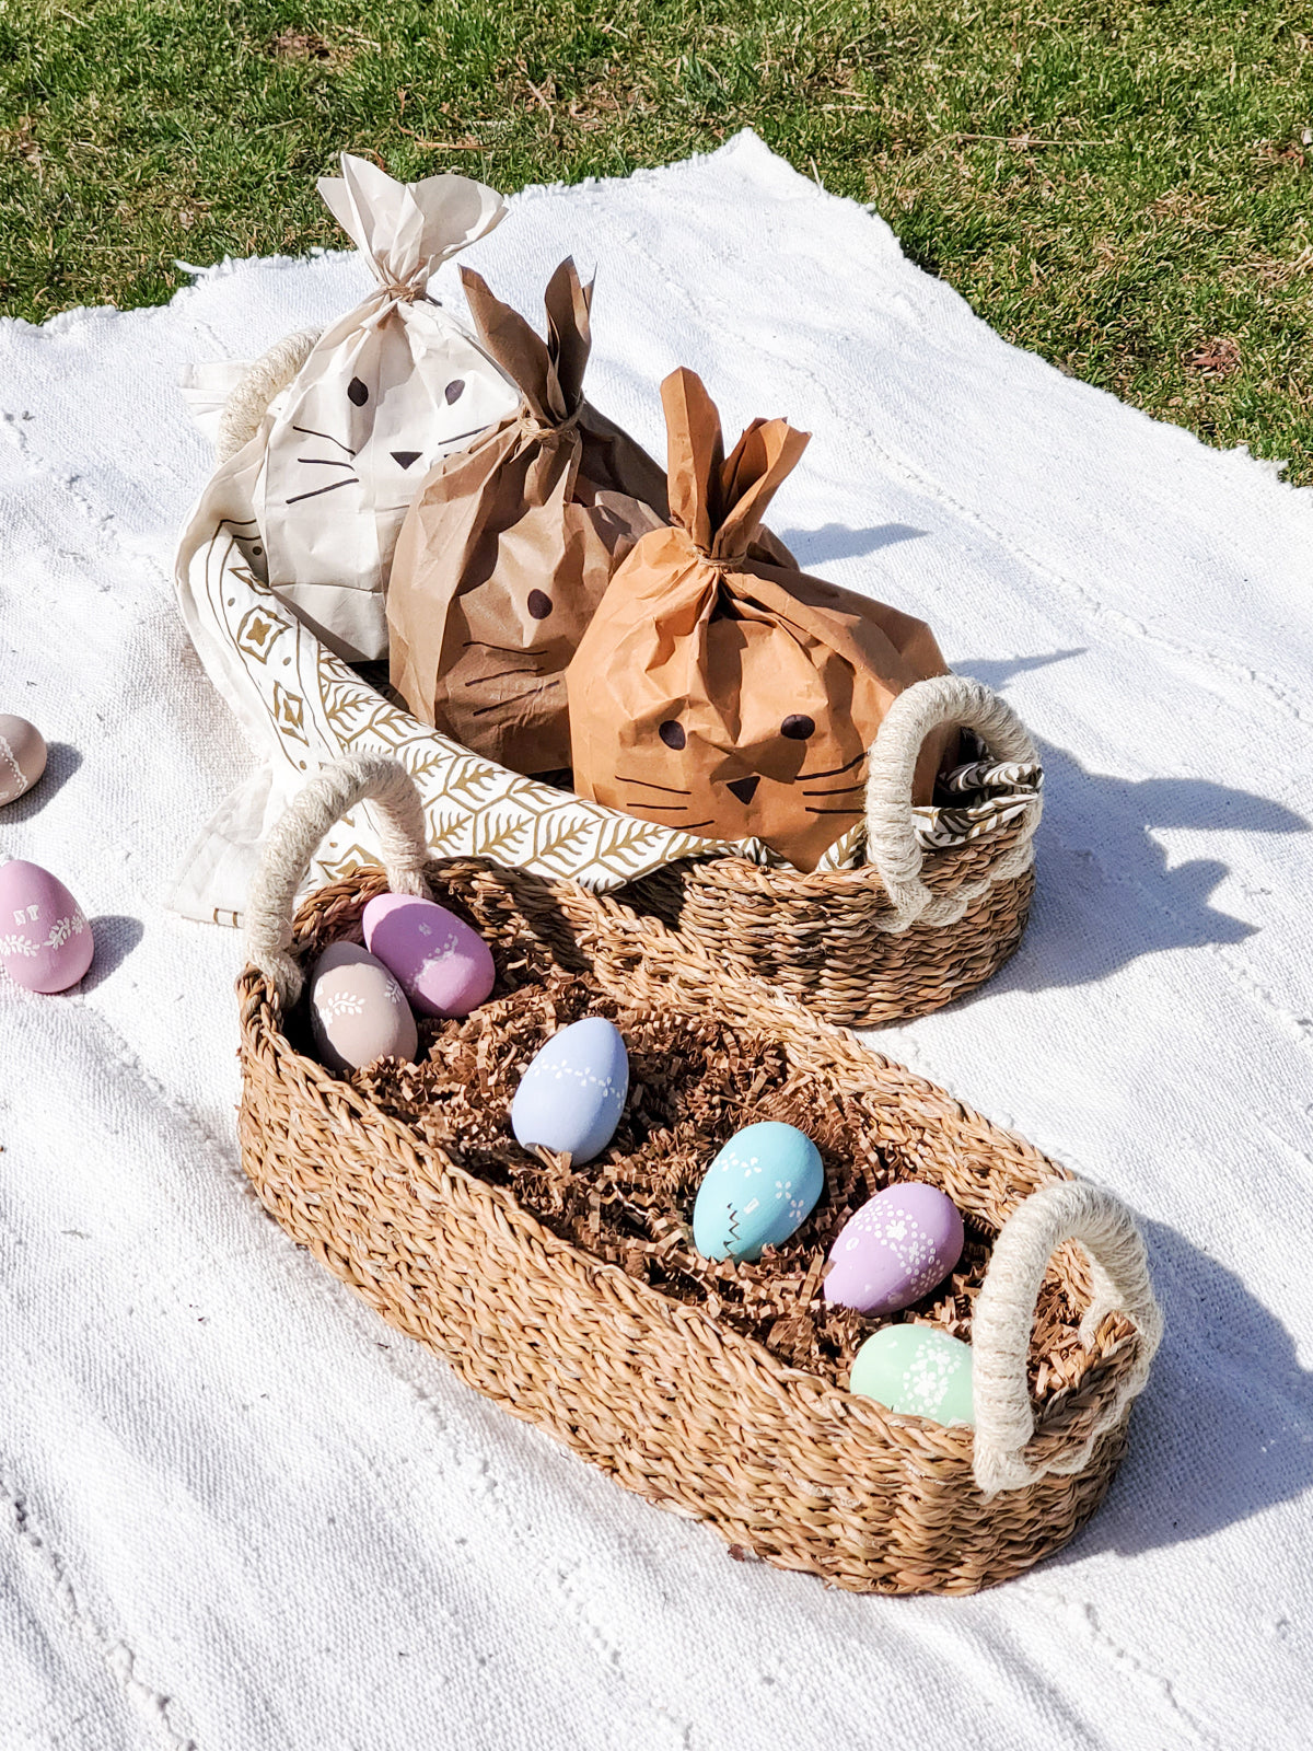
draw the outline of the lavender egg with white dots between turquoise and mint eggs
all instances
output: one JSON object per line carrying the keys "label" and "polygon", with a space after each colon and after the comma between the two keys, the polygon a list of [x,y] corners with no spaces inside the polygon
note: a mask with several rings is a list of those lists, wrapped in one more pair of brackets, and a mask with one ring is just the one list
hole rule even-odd
{"label": "lavender egg with white dots between turquoise and mint eggs", "polygon": [[825,1299],[879,1319],[910,1308],[961,1259],[958,1206],[937,1185],[888,1185],[844,1222]]}

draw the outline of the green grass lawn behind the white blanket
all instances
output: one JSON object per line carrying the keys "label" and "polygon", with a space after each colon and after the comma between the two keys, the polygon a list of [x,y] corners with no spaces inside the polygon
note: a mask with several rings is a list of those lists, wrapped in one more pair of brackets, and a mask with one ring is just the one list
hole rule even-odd
{"label": "green grass lawn behind the white blanket", "polygon": [[[623,175],[753,126],[1001,334],[1313,482],[1313,37],[1274,0],[0,0],[0,310],[340,243],[401,177]],[[1308,21],[1313,32],[1313,18]]]}

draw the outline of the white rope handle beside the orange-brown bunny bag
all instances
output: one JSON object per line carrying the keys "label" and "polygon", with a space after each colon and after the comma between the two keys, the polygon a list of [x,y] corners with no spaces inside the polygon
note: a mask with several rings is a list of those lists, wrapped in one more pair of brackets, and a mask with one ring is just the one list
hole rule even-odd
{"label": "white rope handle beside the orange-brown bunny bag", "polygon": [[966,907],[993,883],[1024,874],[1035,861],[1031,840],[1040,825],[1038,795],[1028,802],[1015,844],[987,874],[952,893],[933,895],[921,879],[924,851],[912,825],[912,774],[931,730],[954,723],[975,730],[996,760],[1029,765],[1035,742],[1007,700],[965,674],[937,674],[905,688],[884,714],[867,762],[867,861],[884,883],[893,916],[881,930],[900,933],[909,925],[956,925]]}

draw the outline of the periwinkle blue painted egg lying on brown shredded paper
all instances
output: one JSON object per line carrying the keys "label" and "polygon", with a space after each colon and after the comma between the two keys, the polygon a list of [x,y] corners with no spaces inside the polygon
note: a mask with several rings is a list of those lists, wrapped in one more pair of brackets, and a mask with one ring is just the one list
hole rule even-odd
{"label": "periwinkle blue painted egg lying on brown shredded paper", "polygon": [[511,1101],[511,1129],[574,1161],[600,1156],[616,1135],[628,1094],[628,1052],[620,1030],[586,1016],[555,1033],[530,1061]]}

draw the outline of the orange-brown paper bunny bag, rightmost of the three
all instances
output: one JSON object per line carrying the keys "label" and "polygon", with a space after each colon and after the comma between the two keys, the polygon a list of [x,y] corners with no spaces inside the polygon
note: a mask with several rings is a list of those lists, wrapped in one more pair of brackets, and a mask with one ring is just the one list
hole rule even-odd
{"label": "orange-brown paper bunny bag, rightmost of the three", "polygon": [[[662,383],[674,527],[616,569],[567,671],[581,797],[812,870],[863,814],[891,700],[947,674],[930,627],[753,552],[807,434],[755,420],[725,455],[692,371]],[[930,802],[956,732],[926,741]]]}

